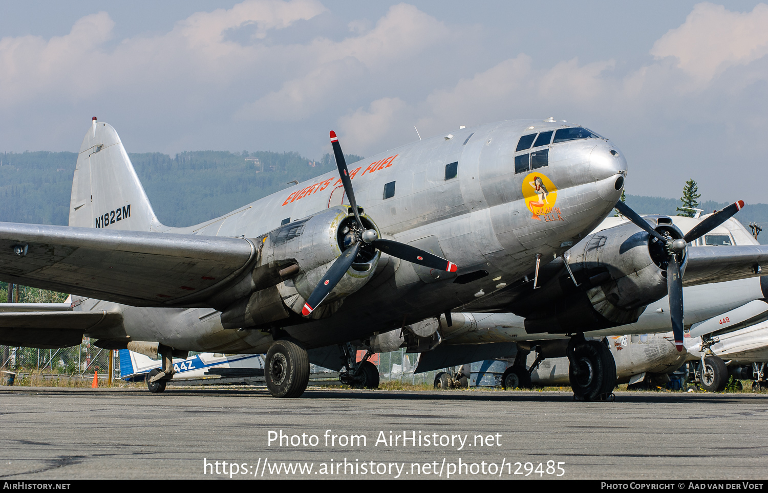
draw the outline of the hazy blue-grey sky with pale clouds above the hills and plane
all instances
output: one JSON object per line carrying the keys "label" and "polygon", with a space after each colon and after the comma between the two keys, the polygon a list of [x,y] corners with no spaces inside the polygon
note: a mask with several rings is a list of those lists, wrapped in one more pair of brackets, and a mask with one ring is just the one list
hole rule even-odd
{"label": "hazy blue-grey sky with pale clouds above the hills and plane", "polygon": [[627,193],[768,202],[768,5],[757,2],[0,0],[0,152],[367,156],[555,117],[627,157]]}

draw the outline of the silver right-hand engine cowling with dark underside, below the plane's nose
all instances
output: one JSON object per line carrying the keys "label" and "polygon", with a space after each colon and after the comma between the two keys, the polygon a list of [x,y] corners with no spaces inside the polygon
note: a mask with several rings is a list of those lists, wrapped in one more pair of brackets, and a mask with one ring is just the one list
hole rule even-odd
{"label": "silver right-hand engine cowling with dark underside, below the plane's nose", "polygon": [[[673,239],[683,233],[666,216],[647,216],[654,229]],[[628,223],[584,238],[553,262],[554,275],[541,289],[513,302],[529,333],[570,334],[637,321],[648,304],[667,295],[666,246]],[[554,265],[556,264],[557,265]],[[684,255],[680,271],[685,270]],[[575,284],[579,284],[578,287]]]}

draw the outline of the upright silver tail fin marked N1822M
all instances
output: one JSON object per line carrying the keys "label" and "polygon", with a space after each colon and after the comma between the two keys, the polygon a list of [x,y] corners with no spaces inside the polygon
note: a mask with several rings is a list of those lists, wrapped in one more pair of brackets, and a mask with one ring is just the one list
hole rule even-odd
{"label": "upright silver tail fin marked N1822M", "polygon": [[93,118],[74,169],[69,225],[152,231],[161,226],[120,136]]}

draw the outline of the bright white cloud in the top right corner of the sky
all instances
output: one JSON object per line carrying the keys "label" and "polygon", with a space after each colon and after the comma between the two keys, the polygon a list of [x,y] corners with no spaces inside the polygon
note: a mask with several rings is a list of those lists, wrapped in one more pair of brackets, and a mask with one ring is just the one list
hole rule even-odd
{"label": "bright white cloud in the top right corner of the sky", "polygon": [[768,54],[768,5],[756,5],[752,12],[730,12],[723,5],[700,3],[683,25],[656,41],[650,53],[677,58],[677,67],[697,84],[706,84],[728,67]]}

